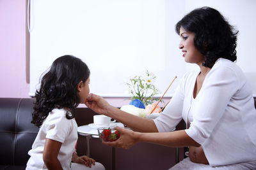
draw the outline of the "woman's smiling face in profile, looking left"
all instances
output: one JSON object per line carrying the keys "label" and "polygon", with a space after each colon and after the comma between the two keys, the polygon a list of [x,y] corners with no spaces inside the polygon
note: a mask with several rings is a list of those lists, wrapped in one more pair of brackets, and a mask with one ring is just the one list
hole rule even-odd
{"label": "woman's smiling face in profile, looking left", "polygon": [[183,57],[186,62],[189,63],[195,63],[195,64],[202,64],[204,61],[204,55],[200,53],[195,45],[194,45],[194,37],[195,33],[193,32],[188,32],[184,30],[184,28],[181,26],[180,27],[180,44],[179,48],[182,49],[183,52]]}

